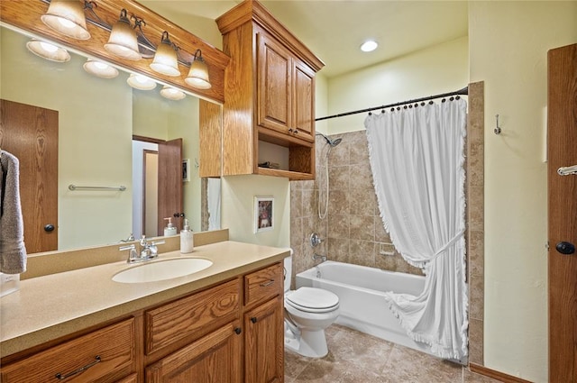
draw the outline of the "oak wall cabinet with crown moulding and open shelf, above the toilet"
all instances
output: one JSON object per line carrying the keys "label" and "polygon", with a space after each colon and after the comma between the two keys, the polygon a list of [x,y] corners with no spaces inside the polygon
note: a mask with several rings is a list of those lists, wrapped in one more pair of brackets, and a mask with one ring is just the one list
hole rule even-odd
{"label": "oak wall cabinet with crown moulding and open shelf, above the toilet", "polygon": [[[314,179],[315,75],[324,63],[257,1],[244,1],[216,23],[231,57],[222,137],[210,138],[222,140],[222,174]],[[261,142],[275,145],[282,160],[260,157]],[[266,161],[286,165],[259,167]]]}

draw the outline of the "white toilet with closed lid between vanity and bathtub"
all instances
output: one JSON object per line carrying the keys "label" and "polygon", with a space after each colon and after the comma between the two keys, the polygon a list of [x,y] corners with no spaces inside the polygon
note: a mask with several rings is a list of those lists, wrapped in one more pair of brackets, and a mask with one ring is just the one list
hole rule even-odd
{"label": "white toilet with closed lid between vanity and bathtub", "polygon": [[325,328],[339,315],[339,297],[316,287],[290,291],[292,256],[285,258],[285,347],[311,358],[328,353]]}

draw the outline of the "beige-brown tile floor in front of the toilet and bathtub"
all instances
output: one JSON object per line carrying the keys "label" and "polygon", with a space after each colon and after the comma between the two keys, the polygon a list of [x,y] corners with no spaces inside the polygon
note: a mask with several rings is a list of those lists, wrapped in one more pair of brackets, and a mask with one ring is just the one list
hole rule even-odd
{"label": "beige-brown tile floor in front of the toilet and bathtub", "polygon": [[285,383],[496,383],[466,367],[333,324],[322,359],[285,352]]}

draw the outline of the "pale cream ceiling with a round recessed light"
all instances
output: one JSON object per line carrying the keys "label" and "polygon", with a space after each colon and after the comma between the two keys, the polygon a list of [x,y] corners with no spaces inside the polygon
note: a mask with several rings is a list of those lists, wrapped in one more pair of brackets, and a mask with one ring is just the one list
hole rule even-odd
{"label": "pale cream ceiling with a round recessed light", "polygon": [[[239,1],[143,0],[141,3],[187,28],[187,17],[211,22]],[[327,78],[468,33],[466,1],[261,0],[261,4],[325,62],[321,73]],[[176,17],[179,20],[174,20]],[[191,32],[206,39],[200,32]],[[359,47],[368,39],[378,41],[379,48],[365,53]]]}

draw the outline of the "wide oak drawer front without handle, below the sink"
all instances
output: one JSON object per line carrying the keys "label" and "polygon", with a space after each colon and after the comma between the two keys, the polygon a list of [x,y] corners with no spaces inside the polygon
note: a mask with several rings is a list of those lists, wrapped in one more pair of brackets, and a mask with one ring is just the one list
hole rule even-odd
{"label": "wide oak drawer front without handle, below the sink", "polygon": [[[240,279],[209,288],[168,305],[149,310],[146,318],[146,353],[150,355],[184,339],[240,307]],[[204,330],[204,329],[203,329]]]}

